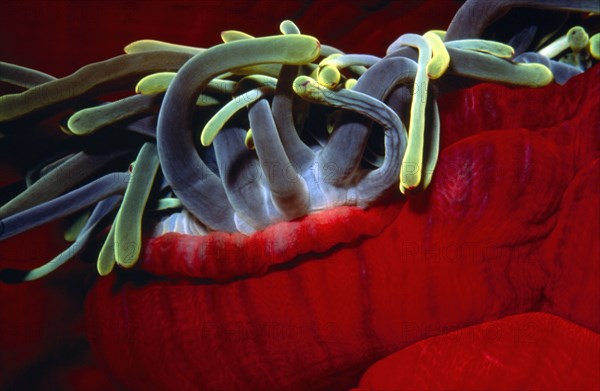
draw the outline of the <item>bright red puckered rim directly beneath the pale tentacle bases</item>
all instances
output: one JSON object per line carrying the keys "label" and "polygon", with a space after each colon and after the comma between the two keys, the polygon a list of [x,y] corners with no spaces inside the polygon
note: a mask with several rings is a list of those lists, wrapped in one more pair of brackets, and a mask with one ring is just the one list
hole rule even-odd
{"label": "bright red puckered rim directly beneath the pale tentacle bases", "polygon": [[249,236],[166,233],[147,238],[139,270],[174,281],[217,283],[288,270],[322,258],[336,247],[356,246],[376,237],[394,221],[402,205],[389,202],[368,210],[339,206],[279,222]]}

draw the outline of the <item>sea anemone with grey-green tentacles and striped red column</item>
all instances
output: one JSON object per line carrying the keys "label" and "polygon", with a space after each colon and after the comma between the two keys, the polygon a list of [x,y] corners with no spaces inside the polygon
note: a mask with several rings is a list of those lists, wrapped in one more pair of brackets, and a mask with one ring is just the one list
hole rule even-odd
{"label": "sea anemone with grey-green tentacles and striped red column", "polygon": [[23,89],[0,96],[2,142],[39,123],[69,136],[3,189],[0,240],[71,216],[72,242],[0,279],[92,258],[111,276],[89,293],[88,338],[133,389],[344,389],[413,342],[540,310],[598,344],[597,312],[560,304],[571,269],[549,256],[597,178],[597,12],[468,1],[383,57],[285,20],[206,49],[138,40],[58,79],[0,63]]}

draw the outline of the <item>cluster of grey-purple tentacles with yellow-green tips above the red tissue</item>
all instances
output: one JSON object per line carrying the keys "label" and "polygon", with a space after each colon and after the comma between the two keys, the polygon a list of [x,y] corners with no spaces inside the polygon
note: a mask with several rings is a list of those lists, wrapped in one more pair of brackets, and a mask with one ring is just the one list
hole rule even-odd
{"label": "cluster of grey-purple tentacles with yellow-green tips above the red tissue", "polygon": [[[595,2],[562,3],[550,8],[598,12]],[[600,58],[600,35],[580,26],[481,39],[500,11],[461,19],[477,7],[447,32],[402,35],[384,58],[345,54],[284,21],[281,35],[226,31],[208,49],[137,41],[62,79],[0,63],[0,80],[24,89],[0,97],[3,137],[74,110],[57,126],[73,137],[29,170],[24,189],[3,189],[0,207],[0,240],[73,215],[72,245],[1,279],[46,275],[108,226],[101,275],[136,263],[142,221],[152,235],[251,234],[334,206],[366,208],[398,187],[417,194],[437,161],[440,92],[473,81],[562,84]],[[132,96],[101,99],[132,85]]]}

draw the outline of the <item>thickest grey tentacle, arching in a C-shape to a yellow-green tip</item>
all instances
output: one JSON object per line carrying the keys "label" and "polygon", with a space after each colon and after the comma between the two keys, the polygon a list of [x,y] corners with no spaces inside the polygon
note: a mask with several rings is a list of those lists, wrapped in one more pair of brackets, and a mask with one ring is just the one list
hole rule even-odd
{"label": "thickest grey tentacle, arching in a C-shape to a yellow-green tip", "polygon": [[230,70],[264,63],[302,64],[319,55],[316,39],[285,35],[214,46],[192,58],[169,85],[158,120],[161,167],[185,207],[213,229],[236,229],[220,179],[193,147],[192,105],[209,80]]}

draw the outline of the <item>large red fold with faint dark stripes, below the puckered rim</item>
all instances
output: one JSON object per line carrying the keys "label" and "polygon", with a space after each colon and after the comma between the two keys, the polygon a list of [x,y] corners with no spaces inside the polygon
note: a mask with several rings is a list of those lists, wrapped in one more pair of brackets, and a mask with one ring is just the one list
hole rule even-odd
{"label": "large red fold with faint dark stripes, below the puckered rim", "polygon": [[546,309],[597,333],[597,241],[579,230],[598,226],[577,218],[599,213],[599,73],[440,103],[446,147],[431,190],[374,238],[228,284],[100,280],[92,346],[131,389],[331,390],[414,342],[511,314]]}

